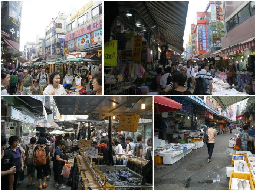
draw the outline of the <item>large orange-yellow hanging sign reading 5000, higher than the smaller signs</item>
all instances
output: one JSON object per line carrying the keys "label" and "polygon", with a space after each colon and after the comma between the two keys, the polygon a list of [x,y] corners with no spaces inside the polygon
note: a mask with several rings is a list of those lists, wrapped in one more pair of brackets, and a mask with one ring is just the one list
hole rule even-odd
{"label": "large orange-yellow hanging sign reading 5000, higher than the smaller signs", "polygon": [[124,116],[120,117],[118,125],[118,131],[133,131],[136,132],[140,120],[140,115]]}

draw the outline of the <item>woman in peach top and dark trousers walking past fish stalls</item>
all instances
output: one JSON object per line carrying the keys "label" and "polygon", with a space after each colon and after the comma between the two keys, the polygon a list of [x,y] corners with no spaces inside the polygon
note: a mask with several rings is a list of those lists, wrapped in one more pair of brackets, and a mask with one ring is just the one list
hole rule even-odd
{"label": "woman in peach top and dark trousers walking past fish stalls", "polygon": [[208,135],[208,142],[206,143],[207,145],[207,151],[208,151],[208,163],[211,162],[211,156],[213,154],[213,148],[215,144],[215,137],[217,135],[216,129],[214,129],[215,124],[213,122],[209,123],[210,129],[206,130],[206,134]]}

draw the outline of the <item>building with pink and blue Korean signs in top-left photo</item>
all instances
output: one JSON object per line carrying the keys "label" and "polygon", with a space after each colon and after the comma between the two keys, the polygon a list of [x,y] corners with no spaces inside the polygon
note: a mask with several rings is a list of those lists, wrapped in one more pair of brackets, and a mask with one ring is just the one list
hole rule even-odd
{"label": "building with pink and blue Korean signs in top-left photo", "polygon": [[85,4],[67,19],[67,25],[65,56],[81,55],[77,52],[79,50],[100,51],[98,53],[102,54],[102,1]]}

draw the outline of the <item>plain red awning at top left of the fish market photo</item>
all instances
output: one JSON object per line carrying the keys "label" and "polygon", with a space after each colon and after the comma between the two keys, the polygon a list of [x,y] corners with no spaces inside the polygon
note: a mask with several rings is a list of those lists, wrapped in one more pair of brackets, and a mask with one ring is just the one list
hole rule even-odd
{"label": "plain red awning at top left of the fish market photo", "polygon": [[155,96],[154,97],[154,112],[173,112],[182,109],[182,104],[175,102],[172,99],[162,97],[162,96]]}

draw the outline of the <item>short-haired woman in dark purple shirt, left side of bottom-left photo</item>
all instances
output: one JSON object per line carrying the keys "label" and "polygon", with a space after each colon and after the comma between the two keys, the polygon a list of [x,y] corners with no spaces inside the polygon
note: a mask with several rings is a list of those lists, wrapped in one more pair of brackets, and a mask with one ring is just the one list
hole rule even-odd
{"label": "short-haired woman in dark purple shirt, left side of bottom-left photo", "polygon": [[16,166],[16,173],[14,174],[14,180],[13,180],[13,190],[16,190],[18,177],[19,177],[19,171],[23,171],[23,159],[22,159],[22,151],[18,147],[19,145],[19,137],[18,136],[11,136],[8,140],[9,147],[7,150],[13,154],[14,157],[14,163]]}

